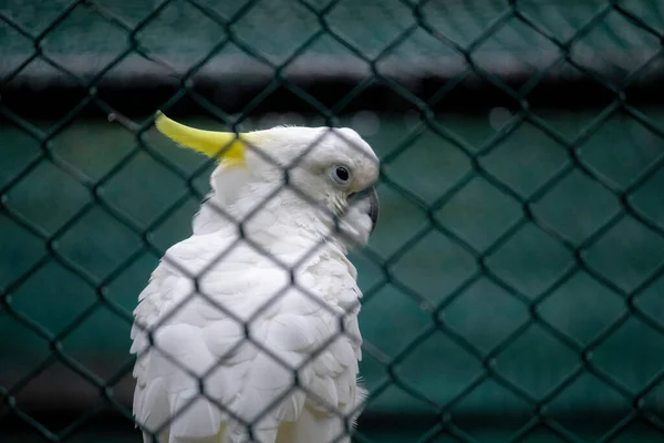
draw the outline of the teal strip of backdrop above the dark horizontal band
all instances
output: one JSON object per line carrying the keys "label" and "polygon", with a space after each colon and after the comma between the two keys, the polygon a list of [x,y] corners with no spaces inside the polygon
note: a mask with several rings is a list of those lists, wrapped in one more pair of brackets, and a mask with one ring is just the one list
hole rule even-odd
{"label": "teal strip of backdrop above the dark horizontal band", "polygon": [[[658,39],[646,27],[660,33],[664,29],[658,0],[614,1],[622,14],[618,10],[601,14],[605,0],[529,0],[516,2],[512,9],[497,0],[428,1],[418,8],[400,0],[338,1],[331,8],[325,8],[329,1],[174,0],[157,8],[162,3],[153,0],[96,0],[69,10],[72,3],[0,0],[0,12],[28,35],[49,29],[40,42],[44,54],[84,79],[98,74],[131,48],[152,61],[133,52],[104,79],[183,73],[211,51],[215,56],[200,74],[216,79],[229,74],[271,76],[271,64],[284,63],[295,53],[288,74],[363,79],[371,74],[363,58],[380,55],[381,73],[421,78],[466,71],[466,59],[455,45],[471,50],[478,68],[498,75],[561,68],[575,75],[578,71],[571,66],[554,63],[562,54],[550,41],[572,38],[570,54],[580,66],[625,75],[660,50]],[[321,18],[328,31],[322,32]],[[49,28],[56,21],[58,25]],[[585,29],[589,23],[590,30]],[[134,40],[127,29],[137,30]],[[0,41],[0,74],[9,74],[33,53],[31,38],[1,22]],[[383,53],[386,48],[390,50]],[[661,66],[651,68],[661,72]],[[54,78],[66,79],[37,60],[22,69],[15,82]]]}

